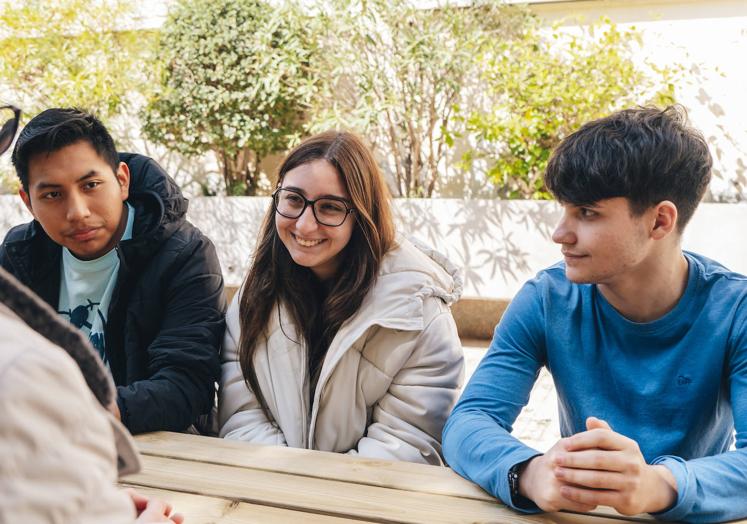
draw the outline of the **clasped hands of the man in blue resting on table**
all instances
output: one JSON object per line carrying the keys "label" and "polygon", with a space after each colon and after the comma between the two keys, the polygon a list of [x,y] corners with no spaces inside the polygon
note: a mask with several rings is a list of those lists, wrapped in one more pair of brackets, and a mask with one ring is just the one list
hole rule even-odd
{"label": "clasped hands of the man in blue resting on table", "polygon": [[674,505],[674,476],[664,466],[646,464],[636,441],[595,417],[586,420],[586,429],[528,461],[520,472],[519,493],[543,511],[611,506],[635,515]]}

